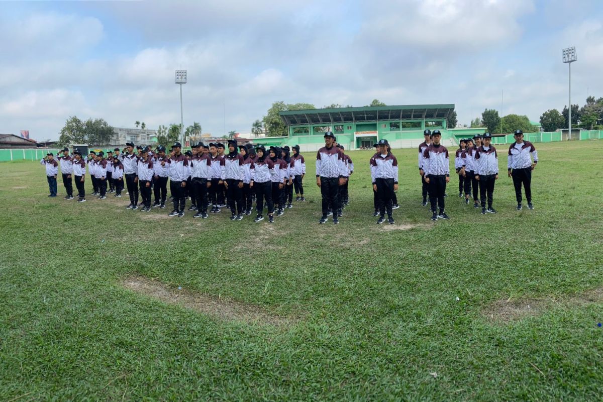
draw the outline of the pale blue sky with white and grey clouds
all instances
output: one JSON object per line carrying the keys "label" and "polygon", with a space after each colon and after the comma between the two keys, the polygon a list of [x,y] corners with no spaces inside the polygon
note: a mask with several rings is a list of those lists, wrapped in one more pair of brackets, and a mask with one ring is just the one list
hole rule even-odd
{"label": "pale blue sky with white and grey clouds", "polygon": [[[0,133],[69,116],[248,132],[273,101],[454,103],[538,120],[603,96],[600,0],[0,1]],[[226,113],[224,113],[224,109]]]}

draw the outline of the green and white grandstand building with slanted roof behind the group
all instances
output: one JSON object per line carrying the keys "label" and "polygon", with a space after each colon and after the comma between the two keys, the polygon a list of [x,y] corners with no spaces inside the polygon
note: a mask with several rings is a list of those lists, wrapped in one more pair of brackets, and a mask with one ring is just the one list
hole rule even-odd
{"label": "green and white grandstand building with slanted roof behind the group", "polygon": [[[453,104],[365,106],[281,111],[288,136],[253,139],[254,143],[299,145],[300,151],[317,151],[324,145],[323,136],[332,131],[346,149],[373,148],[386,139],[392,148],[414,148],[423,142],[423,130],[440,130],[442,143],[456,143],[455,130],[447,128]],[[483,128],[471,130],[483,133]],[[467,131],[467,129],[463,129]]]}

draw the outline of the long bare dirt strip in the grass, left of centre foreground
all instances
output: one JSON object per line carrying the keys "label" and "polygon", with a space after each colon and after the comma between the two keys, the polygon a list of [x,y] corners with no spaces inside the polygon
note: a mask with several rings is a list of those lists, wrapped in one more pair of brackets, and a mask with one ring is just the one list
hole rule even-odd
{"label": "long bare dirt strip in the grass, left of centre foreground", "polygon": [[255,324],[286,325],[294,319],[272,315],[258,306],[239,303],[221,297],[212,297],[185,289],[174,289],[156,280],[144,277],[129,277],[123,286],[169,304],[179,304],[188,309],[204,313],[224,321],[242,321]]}

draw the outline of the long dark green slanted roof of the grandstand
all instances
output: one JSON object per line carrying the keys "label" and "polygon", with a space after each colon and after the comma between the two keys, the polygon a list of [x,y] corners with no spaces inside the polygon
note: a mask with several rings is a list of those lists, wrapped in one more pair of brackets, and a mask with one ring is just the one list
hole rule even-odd
{"label": "long dark green slanted roof of the grandstand", "polygon": [[376,120],[446,119],[453,110],[454,104],[393,105],[287,110],[281,111],[279,115],[286,125],[294,125]]}

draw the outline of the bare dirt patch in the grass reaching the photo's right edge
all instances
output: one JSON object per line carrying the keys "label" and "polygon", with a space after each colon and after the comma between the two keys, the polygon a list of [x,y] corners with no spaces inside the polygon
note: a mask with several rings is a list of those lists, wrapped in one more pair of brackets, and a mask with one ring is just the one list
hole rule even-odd
{"label": "bare dirt patch in the grass reaching the photo's right edge", "polygon": [[554,307],[572,308],[602,302],[603,287],[568,298],[499,300],[484,309],[483,314],[493,322],[506,324],[522,318],[540,315]]}

